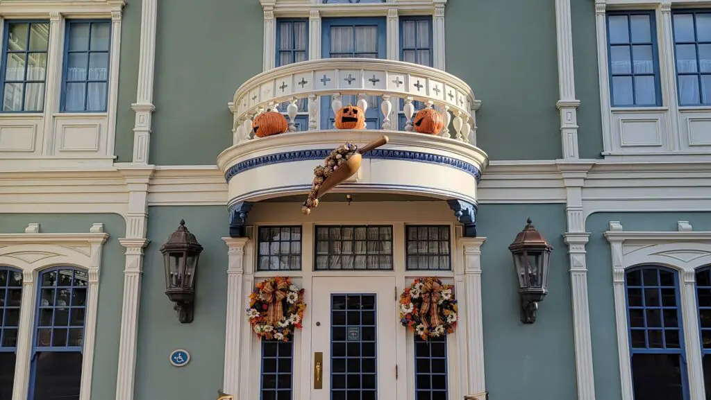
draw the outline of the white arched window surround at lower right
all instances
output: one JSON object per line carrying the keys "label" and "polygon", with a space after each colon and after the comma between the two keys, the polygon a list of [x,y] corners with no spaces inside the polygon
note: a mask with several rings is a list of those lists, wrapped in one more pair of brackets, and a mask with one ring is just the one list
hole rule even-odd
{"label": "white arched window surround at lower right", "polygon": [[625,231],[618,221],[609,222],[604,233],[610,244],[615,297],[617,346],[622,400],[634,400],[628,339],[625,271],[634,266],[656,264],[679,273],[680,306],[691,400],[705,399],[701,344],[697,318],[695,270],[711,264],[711,231],[693,232],[687,221],[676,232]]}

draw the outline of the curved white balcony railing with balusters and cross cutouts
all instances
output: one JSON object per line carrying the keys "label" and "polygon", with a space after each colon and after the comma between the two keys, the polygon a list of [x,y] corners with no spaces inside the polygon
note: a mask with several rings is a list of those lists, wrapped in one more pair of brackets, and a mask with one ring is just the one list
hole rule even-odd
{"label": "curved white balcony railing with balusters and cross cutouts", "polygon": [[[285,111],[290,132],[297,130],[297,116],[308,122],[309,131],[333,129],[322,121],[335,118],[346,95],[355,96],[356,104],[365,111],[373,107],[368,104],[369,99],[378,99],[375,107],[379,108],[383,130],[397,131],[397,119],[402,113],[404,130],[412,131],[412,117],[418,111],[415,102],[422,107],[435,107],[444,119],[439,136],[476,144],[474,111],[480,102],[464,81],[431,67],[368,58],[309,60],[252,77],[240,86],[229,104],[234,117],[234,144],[258,139],[252,131],[252,119],[265,110]],[[308,106],[300,107],[306,106],[304,101]],[[321,107],[322,101],[330,102],[330,107]],[[322,113],[331,115],[322,118]],[[326,124],[329,126],[322,126]]]}

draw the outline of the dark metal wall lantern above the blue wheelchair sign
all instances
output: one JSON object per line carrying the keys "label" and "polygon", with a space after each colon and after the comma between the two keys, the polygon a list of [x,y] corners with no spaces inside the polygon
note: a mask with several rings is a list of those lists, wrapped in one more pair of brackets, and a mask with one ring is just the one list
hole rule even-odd
{"label": "dark metal wall lantern above the blue wheelchair sign", "polygon": [[166,267],[166,296],[175,303],[173,309],[178,312],[181,323],[193,322],[196,274],[201,252],[203,247],[195,235],[188,232],[184,220],[168,242],[161,246]]}

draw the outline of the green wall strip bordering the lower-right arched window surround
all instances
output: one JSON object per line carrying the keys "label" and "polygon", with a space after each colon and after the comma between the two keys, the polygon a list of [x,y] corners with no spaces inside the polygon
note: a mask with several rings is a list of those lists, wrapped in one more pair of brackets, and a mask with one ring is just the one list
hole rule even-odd
{"label": "green wall strip bordering the lower-right arched window surround", "polygon": [[677,221],[689,221],[694,230],[711,230],[711,212],[605,212],[588,217],[587,290],[590,298],[590,332],[595,394],[598,399],[621,399],[619,355],[615,326],[612,264],[604,232],[610,221],[625,230],[676,231]]}

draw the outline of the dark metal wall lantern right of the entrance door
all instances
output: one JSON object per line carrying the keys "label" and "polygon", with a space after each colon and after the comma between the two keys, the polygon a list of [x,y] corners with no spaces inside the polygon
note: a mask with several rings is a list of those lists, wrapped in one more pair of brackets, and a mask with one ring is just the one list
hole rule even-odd
{"label": "dark metal wall lantern right of the entrance door", "polygon": [[521,322],[535,323],[538,302],[548,293],[550,252],[553,247],[535,229],[528,218],[523,231],[508,247],[518,276],[518,296],[521,299]]}

